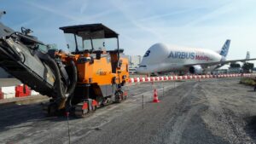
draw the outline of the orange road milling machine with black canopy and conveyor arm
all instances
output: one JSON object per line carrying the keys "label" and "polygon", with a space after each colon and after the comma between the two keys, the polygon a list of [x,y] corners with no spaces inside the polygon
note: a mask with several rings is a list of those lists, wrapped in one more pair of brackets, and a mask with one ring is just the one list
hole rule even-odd
{"label": "orange road milling machine with black canopy and conveyor arm", "polygon": [[40,42],[30,29],[15,32],[0,23],[0,66],[49,96],[44,104],[49,115],[73,112],[84,117],[97,107],[125,100],[128,59],[119,49],[119,34],[102,24],[60,29],[68,53]]}

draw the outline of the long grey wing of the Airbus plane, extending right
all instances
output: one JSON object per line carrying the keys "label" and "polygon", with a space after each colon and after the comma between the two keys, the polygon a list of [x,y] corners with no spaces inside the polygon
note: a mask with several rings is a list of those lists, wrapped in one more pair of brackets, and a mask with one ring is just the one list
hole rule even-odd
{"label": "long grey wing of the Airbus plane, extending right", "polygon": [[245,62],[245,61],[249,61],[249,60],[256,60],[256,58],[254,59],[241,59],[241,60],[224,60],[224,61],[217,61],[217,62],[204,62],[204,63],[195,63],[195,64],[188,64],[185,66],[195,66],[195,65],[201,65],[201,66],[214,66],[214,65],[220,65],[220,66],[224,66],[226,64],[229,64],[231,62]]}

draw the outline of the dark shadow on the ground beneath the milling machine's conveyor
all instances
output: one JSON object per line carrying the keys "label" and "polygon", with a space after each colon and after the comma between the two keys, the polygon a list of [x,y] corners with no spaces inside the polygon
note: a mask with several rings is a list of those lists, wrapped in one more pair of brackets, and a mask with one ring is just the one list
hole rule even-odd
{"label": "dark shadow on the ground beneath the milling machine's conveyor", "polygon": [[[9,103],[0,105],[0,133],[10,129],[20,129],[26,127],[35,127],[38,123],[48,124],[50,122],[67,121],[65,114],[57,116],[47,116],[44,114],[42,104],[19,105]],[[78,119],[70,115],[69,120]]]}

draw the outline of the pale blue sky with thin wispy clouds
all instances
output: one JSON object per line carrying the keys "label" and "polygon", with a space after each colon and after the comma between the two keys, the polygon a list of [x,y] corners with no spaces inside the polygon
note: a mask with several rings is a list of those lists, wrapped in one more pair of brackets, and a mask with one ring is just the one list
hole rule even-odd
{"label": "pale blue sky with thin wispy clouds", "polygon": [[231,39],[228,59],[256,57],[255,0],[0,0],[3,23],[29,27],[44,43],[66,49],[61,26],[103,23],[120,34],[127,55],[154,43],[219,50]]}

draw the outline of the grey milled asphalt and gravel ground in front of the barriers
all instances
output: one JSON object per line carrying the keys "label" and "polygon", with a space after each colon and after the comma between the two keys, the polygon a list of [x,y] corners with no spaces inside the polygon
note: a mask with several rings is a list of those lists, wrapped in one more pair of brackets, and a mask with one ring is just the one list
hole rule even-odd
{"label": "grey milled asphalt and gravel ground in front of the barriers", "polygon": [[[71,143],[255,143],[256,93],[238,82],[155,83],[160,103],[150,83],[131,85],[126,101],[70,118]],[[44,117],[38,103],[0,108],[0,143],[68,143],[67,118]]]}

